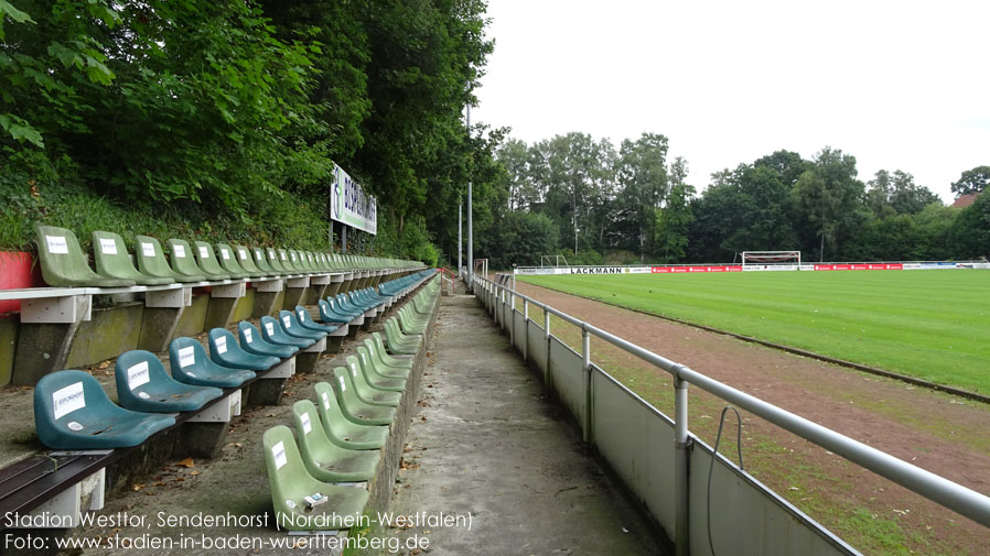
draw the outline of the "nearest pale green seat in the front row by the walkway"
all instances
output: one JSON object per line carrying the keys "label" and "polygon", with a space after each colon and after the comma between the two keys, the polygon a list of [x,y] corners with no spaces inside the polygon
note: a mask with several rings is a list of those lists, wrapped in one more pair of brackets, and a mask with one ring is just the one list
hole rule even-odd
{"label": "nearest pale green seat in the front row by the walkway", "polygon": [[[271,504],[280,528],[316,531],[313,525],[321,521],[333,523],[334,517],[337,520],[361,517],[368,503],[368,491],[330,484],[311,477],[289,427],[279,425],[269,428],[262,435],[261,444],[265,447],[265,464],[271,487]],[[306,501],[308,497],[325,499],[325,502],[311,505]]]}

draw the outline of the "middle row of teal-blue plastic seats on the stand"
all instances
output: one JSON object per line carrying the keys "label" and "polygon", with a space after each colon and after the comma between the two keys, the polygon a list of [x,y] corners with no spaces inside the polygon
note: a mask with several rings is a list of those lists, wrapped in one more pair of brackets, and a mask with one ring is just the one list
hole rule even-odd
{"label": "middle row of teal-blue plastic seats on the stand", "polygon": [[[386,290],[399,295],[431,272],[386,282]],[[337,297],[333,301],[342,309],[354,307],[359,312],[348,315],[362,316],[391,298],[370,288]],[[333,307],[331,299],[321,302]],[[160,414],[200,411],[223,395],[220,389],[241,386],[255,379],[256,373],[263,373],[322,340],[338,324],[316,323],[304,307],[297,306],[295,312],[280,312],[279,318],[261,317],[260,330],[251,323],[239,323],[239,342],[226,328],[214,328],[208,335],[208,358],[197,340],[175,338],[169,348],[171,377],[153,353],[127,351],[118,357],[116,366],[121,406],[115,405],[96,379],[86,372],[65,370],[47,374],[34,391],[39,438],[53,449],[137,446],[175,423],[172,416]],[[375,339],[378,346],[368,340],[366,347],[359,348],[364,350],[362,358],[367,357],[369,362],[376,351],[384,349],[380,337]]]}

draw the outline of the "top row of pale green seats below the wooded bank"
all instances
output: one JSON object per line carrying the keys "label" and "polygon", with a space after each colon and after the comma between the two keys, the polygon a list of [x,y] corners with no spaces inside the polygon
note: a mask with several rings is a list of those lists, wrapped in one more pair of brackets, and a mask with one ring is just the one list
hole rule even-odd
{"label": "top row of pale green seats below the wooded bank", "polygon": [[107,231],[93,232],[94,271],[75,233],[65,228],[36,225],[42,277],[55,287],[128,287],[223,280],[251,280],[308,274],[335,274],[409,266],[409,261],[342,255],[294,249],[211,244],[182,239],[168,241],[165,258],[159,240],[134,236],[133,258],[123,239]]}

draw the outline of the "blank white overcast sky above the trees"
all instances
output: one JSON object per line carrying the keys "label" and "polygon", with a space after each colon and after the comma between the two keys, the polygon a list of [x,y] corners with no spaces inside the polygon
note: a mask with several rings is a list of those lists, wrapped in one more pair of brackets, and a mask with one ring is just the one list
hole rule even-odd
{"label": "blank white overcast sky above the trees", "polygon": [[902,170],[950,201],[990,165],[984,0],[488,0],[495,40],[472,123],[669,139],[699,190],[774,151]]}

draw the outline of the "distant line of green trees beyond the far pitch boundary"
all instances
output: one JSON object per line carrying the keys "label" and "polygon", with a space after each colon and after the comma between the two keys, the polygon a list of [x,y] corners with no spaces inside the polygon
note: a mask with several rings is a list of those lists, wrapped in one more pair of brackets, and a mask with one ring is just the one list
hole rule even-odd
{"label": "distant line of green trees beyond the far pitch boundary", "polygon": [[[808,260],[832,261],[990,254],[988,195],[964,209],[946,207],[900,170],[881,170],[864,184],[856,157],[831,148],[813,160],[777,151],[713,174],[697,194],[685,181],[687,161],[668,161],[667,151],[667,138],[656,133],[617,150],[582,133],[532,145],[506,141],[497,153],[506,174],[497,183],[496,230],[535,216],[556,230],[526,249],[486,243],[480,255],[507,268],[560,252],[571,264],[727,262],[743,250],[799,249]],[[988,176],[987,166],[966,171],[953,189],[979,193]]]}

